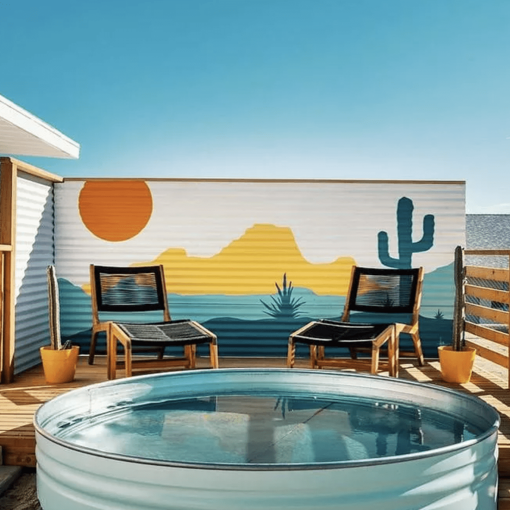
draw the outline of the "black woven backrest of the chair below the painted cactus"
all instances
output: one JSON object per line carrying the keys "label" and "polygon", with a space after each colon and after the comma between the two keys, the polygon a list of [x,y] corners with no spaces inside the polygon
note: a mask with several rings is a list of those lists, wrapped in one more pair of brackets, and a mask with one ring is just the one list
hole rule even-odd
{"label": "black woven backrest of the chair below the painted cactus", "polygon": [[358,312],[413,313],[419,269],[356,267],[349,309]]}

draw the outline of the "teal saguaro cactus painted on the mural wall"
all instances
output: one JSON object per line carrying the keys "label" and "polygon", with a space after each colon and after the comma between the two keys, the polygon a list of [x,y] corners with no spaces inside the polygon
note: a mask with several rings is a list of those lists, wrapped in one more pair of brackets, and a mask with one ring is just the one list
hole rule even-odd
{"label": "teal saguaro cactus painted on the mural wall", "polygon": [[413,253],[429,250],[434,242],[434,216],[427,214],[423,217],[423,236],[413,242],[413,200],[403,196],[397,205],[397,236],[398,259],[391,257],[388,245],[388,233],[381,231],[377,234],[379,260],[387,267],[410,269]]}

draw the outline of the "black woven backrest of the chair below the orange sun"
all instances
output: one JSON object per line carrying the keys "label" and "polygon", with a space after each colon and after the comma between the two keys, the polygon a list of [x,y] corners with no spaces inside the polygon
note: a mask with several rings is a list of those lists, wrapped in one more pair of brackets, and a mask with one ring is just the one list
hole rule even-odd
{"label": "black woven backrest of the chair below the orange sun", "polygon": [[165,310],[160,266],[94,266],[98,312]]}

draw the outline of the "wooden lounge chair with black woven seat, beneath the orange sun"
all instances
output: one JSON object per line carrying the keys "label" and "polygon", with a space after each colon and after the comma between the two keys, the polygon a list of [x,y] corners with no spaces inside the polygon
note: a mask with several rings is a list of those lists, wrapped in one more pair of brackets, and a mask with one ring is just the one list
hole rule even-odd
{"label": "wooden lounge chair with black woven seat, beneath the orange sun", "polygon": [[[108,378],[117,370],[117,342],[123,347],[127,377],[132,368],[162,368],[184,366],[194,368],[197,344],[209,343],[211,367],[218,368],[217,338],[198,322],[171,320],[168,311],[163,266],[107,267],[90,266],[92,294],[92,341],[89,363],[93,363],[95,340],[99,331],[107,334]],[[101,312],[161,311],[161,322],[101,321]],[[183,356],[164,356],[164,349],[183,346]],[[133,349],[145,353],[158,352],[157,359],[133,360]],[[121,365],[121,364],[119,364]]]}

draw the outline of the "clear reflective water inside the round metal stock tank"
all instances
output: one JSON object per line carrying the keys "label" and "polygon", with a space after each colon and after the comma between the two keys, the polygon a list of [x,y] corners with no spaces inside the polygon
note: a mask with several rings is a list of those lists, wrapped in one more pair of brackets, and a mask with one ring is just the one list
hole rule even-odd
{"label": "clear reflective water inside the round metal stock tank", "polygon": [[55,437],[104,453],[204,464],[320,464],[434,450],[483,430],[445,411],[330,394],[211,394],[111,406]]}

